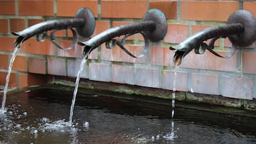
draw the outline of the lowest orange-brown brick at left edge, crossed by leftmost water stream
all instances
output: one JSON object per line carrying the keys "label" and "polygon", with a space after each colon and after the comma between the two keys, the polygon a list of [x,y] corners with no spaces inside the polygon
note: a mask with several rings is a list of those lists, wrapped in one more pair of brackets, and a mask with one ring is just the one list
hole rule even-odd
{"label": "lowest orange-brown brick at left edge, crossed by leftmost water stream", "polygon": [[[7,72],[0,72],[0,85],[5,86]],[[11,72],[9,79],[9,87],[17,87],[16,73]]]}

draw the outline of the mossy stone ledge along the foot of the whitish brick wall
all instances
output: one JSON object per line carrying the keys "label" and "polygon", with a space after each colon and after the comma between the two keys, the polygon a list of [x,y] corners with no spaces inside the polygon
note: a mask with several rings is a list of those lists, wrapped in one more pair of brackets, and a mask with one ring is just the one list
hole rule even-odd
{"label": "mossy stone ledge along the foot of the whitish brick wall", "polygon": [[[67,77],[55,77],[53,84],[60,84],[63,86],[74,87],[75,79]],[[82,90],[84,89],[84,90]],[[150,87],[140,87],[129,84],[119,84],[112,82],[97,82],[88,79],[80,79],[80,87],[78,92],[87,91],[87,89],[107,92],[107,95],[122,94],[122,95],[135,95],[146,96],[152,98],[160,98],[168,100],[171,104],[171,90],[157,89]],[[119,97],[120,98],[120,97]],[[122,98],[122,97],[121,97]],[[134,98],[133,98],[134,99]],[[135,99],[136,100],[136,99]],[[206,104],[206,106],[225,106],[227,108],[235,108],[240,110],[256,111],[256,100],[233,99],[221,95],[213,94],[198,94],[191,92],[176,92],[176,100],[193,104]],[[222,108],[223,109],[223,108]],[[225,111],[224,109],[221,111]],[[219,111],[218,111],[219,112]]]}

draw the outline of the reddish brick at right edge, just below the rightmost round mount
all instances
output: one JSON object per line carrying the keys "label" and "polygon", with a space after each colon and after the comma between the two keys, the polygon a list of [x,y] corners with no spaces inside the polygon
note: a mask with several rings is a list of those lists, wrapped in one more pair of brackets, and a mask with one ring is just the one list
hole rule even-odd
{"label": "reddish brick at right edge, just below the rightmost round mount", "polygon": [[242,72],[256,74],[256,52],[242,52]]}

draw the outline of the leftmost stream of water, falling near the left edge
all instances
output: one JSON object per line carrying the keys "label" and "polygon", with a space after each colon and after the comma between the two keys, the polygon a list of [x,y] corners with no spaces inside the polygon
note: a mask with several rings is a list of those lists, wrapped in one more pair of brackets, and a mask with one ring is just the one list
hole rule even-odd
{"label": "leftmost stream of water, falling near the left edge", "polygon": [[2,100],[2,105],[1,105],[1,110],[0,110],[1,113],[4,113],[4,107],[5,107],[5,104],[6,104],[6,94],[7,94],[9,79],[10,79],[10,75],[11,75],[11,67],[14,64],[14,60],[15,60],[16,54],[18,52],[18,48],[19,48],[19,46],[15,47],[14,52],[11,55],[11,60],[10,60],[10,63],[9,63],[8,73],[6,75],[6,85],[4,86],[4,97],[3,97],[3,100]]}

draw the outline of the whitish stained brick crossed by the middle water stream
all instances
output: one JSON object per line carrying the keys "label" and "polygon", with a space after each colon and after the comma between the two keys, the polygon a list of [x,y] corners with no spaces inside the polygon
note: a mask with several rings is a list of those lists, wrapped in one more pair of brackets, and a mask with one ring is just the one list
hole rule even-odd
{"label": "whitish stained brick crossed by the middle water stream", "polygon": [[[67,68],[68,68],[68,77],[77,77],[78,76],[78,71],[80,70],[80,65],[81,65],[80,59],[75,59],[75,60],[68,60],[67,62]],[[81,78],[89,78],[89,66],[87,63],[85,63],[84,69],[82,70],[82,73],[80,74]]]}

